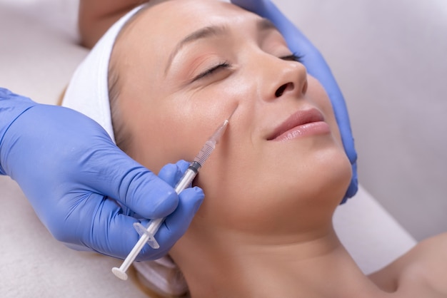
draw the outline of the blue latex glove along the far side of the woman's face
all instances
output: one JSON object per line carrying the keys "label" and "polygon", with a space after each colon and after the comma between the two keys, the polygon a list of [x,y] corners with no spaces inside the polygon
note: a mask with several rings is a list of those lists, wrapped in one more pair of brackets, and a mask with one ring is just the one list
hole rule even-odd
{"label": "blue latex glove along the far side of the woman's face", "polygon": [[343,140],[346,155],[348,155],[352,165],[353,175],[351,184],[341,203],[346,202],[349,197],[356,194],[358,189],[357,153],[356,148],[354,148],[346,103],[335,78],[333,78],[331,69],[326,64],[326,61],[324,61],[318,49],[313,46],[306,36],[270,0],[231,0],[231,2],[272,21],[284,38],[286,38],[291,51],[301,58],[301,62],[306,66],[308,73],[320,81],[328,93],[329,98],[331,98],[333,111],[336,115],[338,127],[340,128],[341,140]]}

